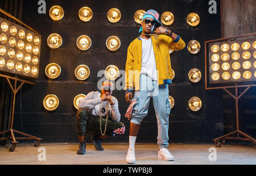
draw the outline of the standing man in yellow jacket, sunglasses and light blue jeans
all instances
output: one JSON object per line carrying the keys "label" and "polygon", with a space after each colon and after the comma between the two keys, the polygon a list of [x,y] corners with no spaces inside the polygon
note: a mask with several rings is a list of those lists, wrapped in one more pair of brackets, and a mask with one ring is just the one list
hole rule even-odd
{"label": "standing man in yellow jacket, sunglasses and light blue jeans", "polygon": [[[135,163],[135,140],[141,121],[147,115],[150,97],[153,98],[158,122],[158,157],[174,160],[174,156],[167,149],[168,118],[171,110],[168,84],[172,83],[169,49],[181,50],[185,43],[170,29],[161,27],[162,23],[158,19],[158,12],[148,10],[143,15],[142,27],[139,30],[141,35],[127,49],[125,99],[131,103],[126,112],[126,117],[130,119],[127,163]],[[152,35],[152,31],[156,36]]]}

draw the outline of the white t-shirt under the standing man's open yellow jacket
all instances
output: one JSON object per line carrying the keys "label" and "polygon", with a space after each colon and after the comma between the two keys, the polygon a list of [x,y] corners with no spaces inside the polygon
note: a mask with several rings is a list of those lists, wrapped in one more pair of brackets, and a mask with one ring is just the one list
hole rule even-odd
{"label": "white t-shirt under the standing man's open yellow jacket", "polygon": [[141,73],[147,74],[151,80],[158,80],[156,72],[155,54],[151,38],[142,40]]}

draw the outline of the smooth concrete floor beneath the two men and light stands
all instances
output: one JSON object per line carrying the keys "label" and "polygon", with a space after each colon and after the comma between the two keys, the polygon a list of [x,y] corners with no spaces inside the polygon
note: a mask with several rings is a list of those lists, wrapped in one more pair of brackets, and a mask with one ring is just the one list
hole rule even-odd
{"label": "smooth concrete floor beneath the two men and light stands", "polygon": [[[0,146],[0,165],[125,165],[128,144],[102,144],[104,151],[96,151],[92,144],[86,144],[86,154],[76,154],[78,144],[40,144],[34,147],[28,144],[16,145],[15,151],[9,151],[9,145]],[[46,161],[38,156],[45,148]],[[211,148],[213,147],[213,148]],[[209,151],[210,148],[210,151]],[[157,157],[157,144],[136,144],[136,164],[138,165],[255,165],[256,148],[254,145],[214,144],[171,144],[169,151],[175,161],[164,161]],[[210,161],[216,149],[216,161]]]}

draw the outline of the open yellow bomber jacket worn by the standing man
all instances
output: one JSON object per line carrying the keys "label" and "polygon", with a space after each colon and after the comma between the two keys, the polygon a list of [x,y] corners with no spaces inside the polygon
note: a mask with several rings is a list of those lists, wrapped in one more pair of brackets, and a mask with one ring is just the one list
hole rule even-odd
{"label": "open yellow bomber jacket worn by the standing man", "polygon": [[[158,84],[171,84],[171,59],[169,49],[174,51],[185,47],[184,41],[177,36],[172,40],[167,35],[151,36],[155,54],[156,70],[158,71]],[[127,60],[125,66],[125,91],[139,90],[139,77],[141,75],[142,40],[141,36],[135,38],[127,49]]]}

